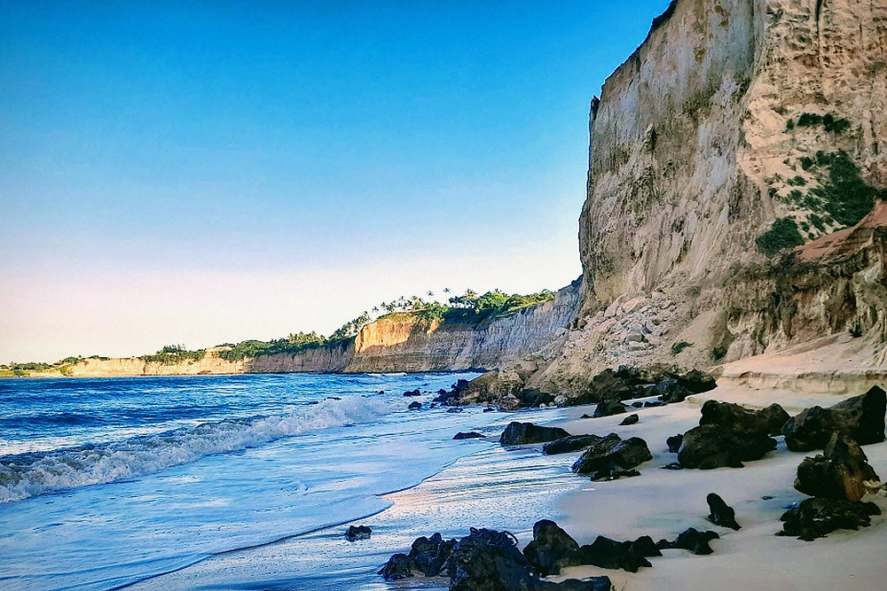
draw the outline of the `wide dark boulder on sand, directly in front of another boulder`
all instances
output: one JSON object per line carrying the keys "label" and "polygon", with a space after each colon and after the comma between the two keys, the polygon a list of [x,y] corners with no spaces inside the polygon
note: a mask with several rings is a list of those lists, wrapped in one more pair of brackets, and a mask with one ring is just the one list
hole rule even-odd
{"label": "wide dark boulder on sand, directly in front of another boulder", "polygon": [[759,460],[776,448],[776,439],[764,433],[743,433],[717,424],[703,424],[684,433],[678,462],[685,468],[710,470]]}

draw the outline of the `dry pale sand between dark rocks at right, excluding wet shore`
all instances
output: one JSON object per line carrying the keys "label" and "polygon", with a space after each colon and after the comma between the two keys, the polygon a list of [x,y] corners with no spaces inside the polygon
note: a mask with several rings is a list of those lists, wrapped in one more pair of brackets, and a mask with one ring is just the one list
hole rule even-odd
{"label": "dry pale sand between dark rocks at right, excluding wet shore", "polygon": [[[659,469],[675,461],[665,439],[698,424],[703,400],[729,400],[757,408],[776,401],[789,414],[797,414],[803,408],[830,406],[847,397],[728,385],[682,404],[641,410],[640,423],[632,426],[617,426],[623,416],[562,423],[569,432],[612,431],[622,437],[641,437],[648,441],[654,455],[651,462],[640,466],[638,478],[588,482],[583,490],[562,498],[560,509],[566,518],[559,525],[580,544],[591,543],[599,534],[616,540],[633,540],[644,534],[654,540],[673,540],[691,526],[713,530],[721,538],[711,542],[714,554],[710,556],[665,550],[663,557],[650,559],[652,568],[637,573],[575,567],[565,569],[553,580],[607,574],[620,591],[887,589],[884,516],[874,517],[872,526],[859,532],[839,531],[812,542],[774,535],[781,530],[782,507],[806,498],[794,490],[792,483],[797,464],[805,455],[812,455],[789,452],[781,437],[777,438],[776,451],[763,460],[746,463],[742,469]],[[576,414],[580,414],[578,409]],[[887,477],[887,443],[863,449],[875,471]],[[735,509],[742,530],[734,532],[707,521],[705,496],[712,492]],[[765,495],[773,499],[765,501]],[[887,513],[887,499],[867,495],[865,500],[876,502]]]}

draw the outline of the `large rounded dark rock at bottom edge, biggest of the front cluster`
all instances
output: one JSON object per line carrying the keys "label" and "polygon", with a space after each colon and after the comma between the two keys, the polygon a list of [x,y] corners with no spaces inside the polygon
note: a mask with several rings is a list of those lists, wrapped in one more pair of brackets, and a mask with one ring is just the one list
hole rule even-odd
{"label": "large rounded dark rock at bottom edge, biggest of the front cluster", "polygon": [[538,583],[512,534],[474,527],[453,546],[446,571],[450,591],[513,591]]}

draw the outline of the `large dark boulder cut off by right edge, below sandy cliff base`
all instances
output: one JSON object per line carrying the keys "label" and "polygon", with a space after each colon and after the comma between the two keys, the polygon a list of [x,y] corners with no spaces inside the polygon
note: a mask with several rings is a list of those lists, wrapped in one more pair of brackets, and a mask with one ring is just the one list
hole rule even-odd
{"label": "large dark boulder cut off by right edge, below sandy cliff base", "polygon": [[887,394],[878,386],[860,396],[821,408],[807,408],[782,427],[785,444],[791,451],[822,449],[832,432],[854,439],[860,446],[884,440],[884,412]]}

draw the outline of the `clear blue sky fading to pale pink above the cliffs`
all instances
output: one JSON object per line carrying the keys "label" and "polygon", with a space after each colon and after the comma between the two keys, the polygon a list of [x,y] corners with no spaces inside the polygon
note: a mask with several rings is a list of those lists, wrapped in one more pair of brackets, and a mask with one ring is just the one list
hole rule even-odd
{"label": "clear blue sky fading to pale pink above the cliffs", "polygon": [[667,5],[0,2],[0,362],[569,284],[589,103]]}

